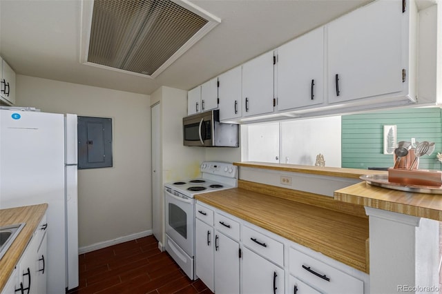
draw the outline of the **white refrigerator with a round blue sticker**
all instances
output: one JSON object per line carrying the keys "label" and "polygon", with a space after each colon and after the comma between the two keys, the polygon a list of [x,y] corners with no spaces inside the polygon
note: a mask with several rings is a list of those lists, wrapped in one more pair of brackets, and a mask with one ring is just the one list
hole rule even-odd
{"label": "white refrigerator with a round blue sticker", "polygon": [[78,286],[77,115],[0,108],[0,208],[41,203],[48,293],[65,293]]}

